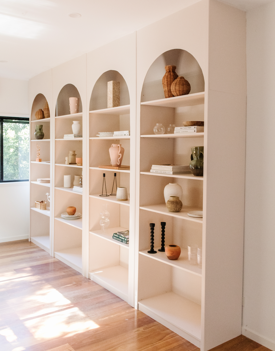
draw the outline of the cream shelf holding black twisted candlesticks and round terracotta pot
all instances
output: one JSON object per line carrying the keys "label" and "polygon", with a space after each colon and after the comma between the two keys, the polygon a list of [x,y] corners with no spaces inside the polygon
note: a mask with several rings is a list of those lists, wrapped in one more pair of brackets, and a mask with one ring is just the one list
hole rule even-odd
{"label": "cream shelf holding black twisted candlesticks and round terracotta pot", "polygon": [[177,260],[169,260],[165,254],[165,252],[160,252],[158,249],[160,249],[161,246],[155,247],[154,250],[157,251],[157,253],[148,253],[150,250],[150,247],[146,250],[139,251],[140,254],[150,257],[154,260],[169,264],[170,266],[182,269],[186,272],[190,272],[195,274],[196,276],[201,277],[202,276],[202,269],[198,267],[198,265],[192,266],[189,264],[188,261],[188,252],[187,249],[184,247],[181,247],[181,255]]}

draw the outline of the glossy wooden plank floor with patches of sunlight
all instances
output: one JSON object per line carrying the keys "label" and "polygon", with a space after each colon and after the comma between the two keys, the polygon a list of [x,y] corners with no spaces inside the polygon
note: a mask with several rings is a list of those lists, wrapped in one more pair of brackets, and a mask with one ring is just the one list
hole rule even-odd
{"label": "glossy wooden plank floor with patches of sunlight", "polygon": [[[20,240],[0,244],[0,350],[199,349],[38,246]],[[269,349],[241,335],[214,350]]]}

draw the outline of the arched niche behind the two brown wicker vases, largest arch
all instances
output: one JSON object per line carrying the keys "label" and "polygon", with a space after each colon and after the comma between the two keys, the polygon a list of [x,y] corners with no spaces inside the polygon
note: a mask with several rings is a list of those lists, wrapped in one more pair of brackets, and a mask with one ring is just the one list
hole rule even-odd
{"label": "arched niche behind the two brown wicker vases, largest arch", "polygon": [[189,81],[190,94],[204,91],[204,77],[198,61],[188,51],[172,49],[161,54],[150,66],[142,87],[141,102],[164,99],[162,78],[165,66],[176,66],[176,73]]}

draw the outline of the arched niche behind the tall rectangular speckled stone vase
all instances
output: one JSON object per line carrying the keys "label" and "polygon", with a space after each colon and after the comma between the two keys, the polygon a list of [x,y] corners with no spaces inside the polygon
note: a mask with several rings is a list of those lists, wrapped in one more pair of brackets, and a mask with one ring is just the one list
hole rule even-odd
{"label": "arched niche behind the tall rectangular speckled stone vase", "polygon": [[106,71],[96,81],[90,99],[89,111],[107,108],[107,82],[120,82],[120,106],[130,104],[130,95],[125,79],[117,71]]}

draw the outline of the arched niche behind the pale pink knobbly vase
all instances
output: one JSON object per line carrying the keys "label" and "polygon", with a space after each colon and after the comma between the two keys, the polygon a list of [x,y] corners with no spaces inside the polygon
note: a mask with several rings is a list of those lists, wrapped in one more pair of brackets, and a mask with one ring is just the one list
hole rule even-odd
{"label": "arched niche behind the pale pink knobbly vase", "polygon": [[82,102],[77,88],[73,84],[66,84],[58,94],[55,105],[55,117],[70,114],[69,98],[79,98],[78,112],[82,112]]}

